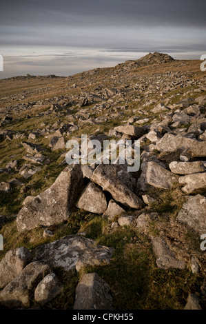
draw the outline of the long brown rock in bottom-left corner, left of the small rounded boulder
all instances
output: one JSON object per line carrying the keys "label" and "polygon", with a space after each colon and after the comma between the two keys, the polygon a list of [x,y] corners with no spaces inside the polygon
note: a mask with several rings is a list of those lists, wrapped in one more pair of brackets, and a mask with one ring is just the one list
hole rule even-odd
{"label": "long brown rock in bottom-left corner, left of the small rounded boulder", "polygon": [[37,261],[28,264],[18,276],[0,292],[4,307],[30,307],[30,299],[38,283],[50,272],[50,267]]}

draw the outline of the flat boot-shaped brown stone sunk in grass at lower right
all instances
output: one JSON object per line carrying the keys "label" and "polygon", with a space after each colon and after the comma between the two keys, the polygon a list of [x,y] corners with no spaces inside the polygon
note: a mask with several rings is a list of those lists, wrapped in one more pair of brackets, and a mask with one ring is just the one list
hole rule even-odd
{"label": "flat boot-shaped brown stone sunk in grass at lower right", "polygon": [[152,247],[156,255],[156,265],[162,269],[185,269],[185,262],[176,259],[174,252],[169,249],[163,237],[154,237]]}

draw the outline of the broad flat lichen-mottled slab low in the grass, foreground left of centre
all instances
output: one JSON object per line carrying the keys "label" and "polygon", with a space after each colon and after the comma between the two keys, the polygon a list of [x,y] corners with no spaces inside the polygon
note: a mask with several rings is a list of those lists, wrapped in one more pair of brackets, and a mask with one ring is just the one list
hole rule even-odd
{"label": "broad flat lichen-mottled slab low in the grass, foreground left of centre", "polygon": [[68,235],[58,241],[41,245],[35,250],[35,259],[51,267],[63,267],[65,271],[79,271],[85,265],[110,263],[113,249],[96,245],[96,242],[82,236]]}

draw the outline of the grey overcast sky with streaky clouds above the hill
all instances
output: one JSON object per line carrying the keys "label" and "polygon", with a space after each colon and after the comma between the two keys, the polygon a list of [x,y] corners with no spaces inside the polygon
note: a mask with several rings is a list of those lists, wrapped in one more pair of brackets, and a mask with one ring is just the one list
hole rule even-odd
{"label": "grey overcast sky with streaky clouds above the hill", "polygon": [[155,51],[200,59],[205,12],[203,0],[1,1],[0,79],[68,76]]}

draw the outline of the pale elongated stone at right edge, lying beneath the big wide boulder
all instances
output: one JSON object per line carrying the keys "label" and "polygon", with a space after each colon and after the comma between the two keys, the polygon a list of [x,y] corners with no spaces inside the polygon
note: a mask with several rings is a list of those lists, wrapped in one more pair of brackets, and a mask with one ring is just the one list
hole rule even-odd
{"label": "pale elongated stone at right edge, lying beneath the big wide boulder", "polygon": [[195,161],[195,162],[173,161],[169,163],[169,169],[176,174],[192,174],[192,173],[205,171],[204,163],[202,161]]}

